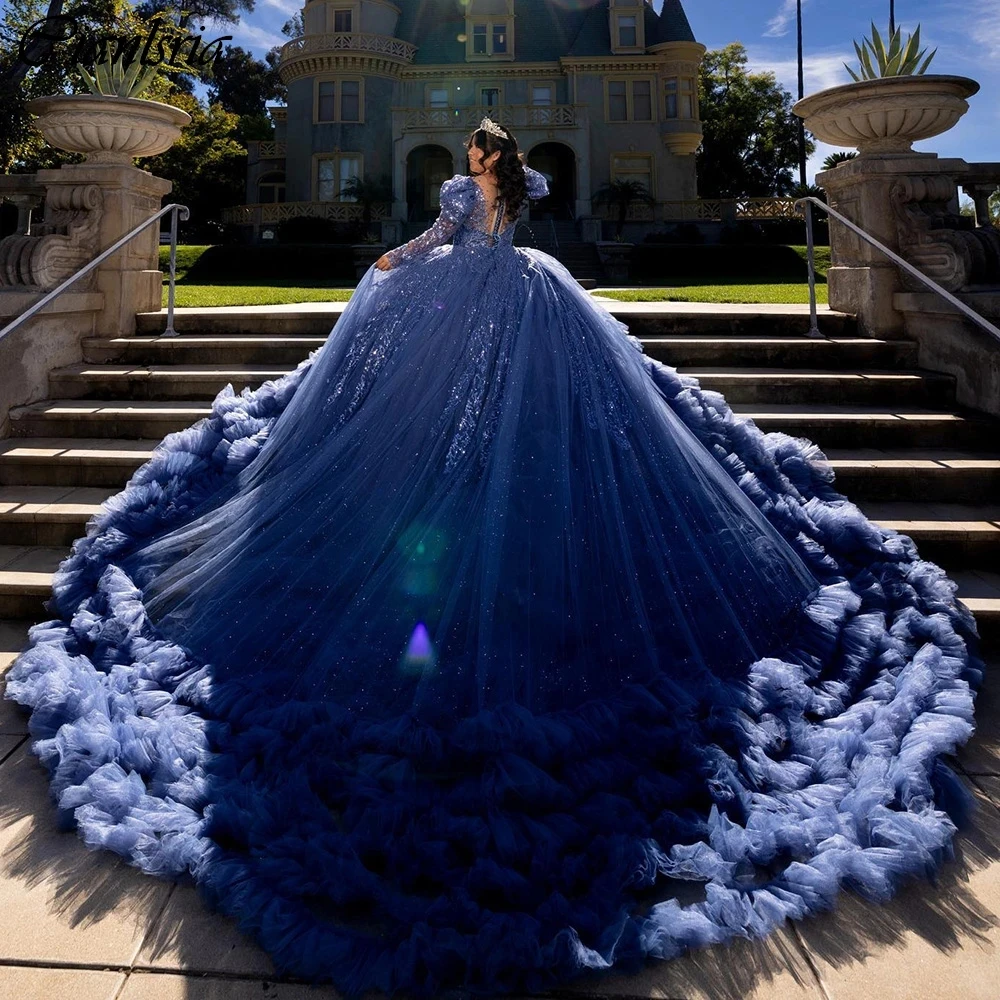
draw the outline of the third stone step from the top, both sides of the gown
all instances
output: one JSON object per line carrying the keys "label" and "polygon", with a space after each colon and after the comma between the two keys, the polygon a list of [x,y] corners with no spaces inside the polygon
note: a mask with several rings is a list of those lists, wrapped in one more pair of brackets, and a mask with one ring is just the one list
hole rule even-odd
{"label": "third stone step from the top, both sides of the gown", "polygon": [[[49,374],[54,396],[66,399],[213,399],[227,384],[257,388],[291,370],[288,365],[77,364]],[[866,403],[945,406],[955,382],[934,372],[838,371],[782,368],[707,368],[681,371],[731,403]]]}

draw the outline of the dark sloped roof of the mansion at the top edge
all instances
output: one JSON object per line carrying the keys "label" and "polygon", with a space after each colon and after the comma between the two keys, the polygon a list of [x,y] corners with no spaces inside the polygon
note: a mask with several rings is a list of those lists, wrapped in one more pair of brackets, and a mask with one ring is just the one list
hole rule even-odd
{"label": "dark sloped roof of the mansion at the top edge", "polygon": [[[397,0],[402,8],[396,34],[417,46],[414,63],[464,63],[465,5],[461,0]],[[555,62],[561,56],[611,54],[608,0],[514,0],[515,55],[519,62]],[[646,44],[694,41],[681,0],[664,0],[657,14],[644,10]]]}

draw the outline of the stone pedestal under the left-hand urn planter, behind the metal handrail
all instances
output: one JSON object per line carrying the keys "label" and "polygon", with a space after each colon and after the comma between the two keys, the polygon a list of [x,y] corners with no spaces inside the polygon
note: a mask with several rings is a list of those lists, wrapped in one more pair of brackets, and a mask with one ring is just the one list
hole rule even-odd
{"label": "stone pedestal under the left-hand urn planter, behind the metal handrail", "polygon": [[[93,237],[87,259],[92,260],[129,230],[160,210],[172,184],[148,171],[120,164],[72,164],[36,175],[46,188],[46,201],[71,198],[72,191],[99,194],[90,207]],[[91,197],[91,200],[94,200]],[[163,274],[159,269],[160,226],[151,225],[133,237],[98,268],[91,287],[104,296],[96,319],[98,337],[128,336],[135,332],[137,312],[159,312]]]}

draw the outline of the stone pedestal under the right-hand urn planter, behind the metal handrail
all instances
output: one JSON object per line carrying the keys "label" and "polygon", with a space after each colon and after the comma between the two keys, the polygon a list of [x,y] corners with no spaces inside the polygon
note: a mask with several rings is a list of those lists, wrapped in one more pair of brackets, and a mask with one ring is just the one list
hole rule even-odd
{"label": "stone pedestal under the right-hand urn planter, behind the metal handrail", "polygon": [[[827,192],[831,208],[909,259],[920,241],[913,204],[924,199],[935,205],[944,202],[957,216],[957,182],[967,170],[964,160],[939,159],[934,153],[868,155],[824,171],[816,183]],[[902,337],[904,317],[893,296],[910,281],[904,282],[885,254],[835,219],[830,220],[830,249],[830,307],[856,314],[870,336]]]}

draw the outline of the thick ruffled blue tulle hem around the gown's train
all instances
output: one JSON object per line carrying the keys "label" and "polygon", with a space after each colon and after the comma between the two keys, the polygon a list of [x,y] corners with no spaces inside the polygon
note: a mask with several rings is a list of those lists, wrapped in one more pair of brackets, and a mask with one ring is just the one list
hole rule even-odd
{"label": "thick ruffled blue tulle hem around the gown's train", "polygon": [[745,683],[386,722],[215,678],[121,564],[236,488],[306,362],[168,437],[60,570],[61,620],[32,630],[7,694],[66,823],[192,878],[280,969],[351,994],[542,989],[932,871],[964,801],[942,758],[980,677],[954,584],[841,497],[815,446],[644,364],[822,584]]}

